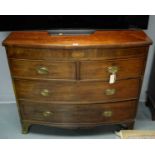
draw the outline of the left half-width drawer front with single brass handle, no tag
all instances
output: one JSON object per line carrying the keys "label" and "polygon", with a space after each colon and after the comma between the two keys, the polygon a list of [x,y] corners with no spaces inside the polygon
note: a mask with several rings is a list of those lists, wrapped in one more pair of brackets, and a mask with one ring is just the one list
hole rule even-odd
{"label": "left half-width drawer front with single brass handle, no tag", "polygon": [[13,77],[75,79],[75,63],[65,61],[33,61],[10,59]]}

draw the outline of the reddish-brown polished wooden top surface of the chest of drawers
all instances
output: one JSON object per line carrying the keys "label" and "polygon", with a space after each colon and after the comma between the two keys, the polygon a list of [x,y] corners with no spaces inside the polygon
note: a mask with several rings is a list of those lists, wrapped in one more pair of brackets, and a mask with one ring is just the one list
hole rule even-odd
{"label": "reddish-brown polished wooden top surface of the chest of drawers", "polygon": [[96,31],[90,35],[55,36],[47,31],[12,32],[3,42],[5,46],[43,48],[84,48],[84,47],[135,47],[152,43],[141,30]]}

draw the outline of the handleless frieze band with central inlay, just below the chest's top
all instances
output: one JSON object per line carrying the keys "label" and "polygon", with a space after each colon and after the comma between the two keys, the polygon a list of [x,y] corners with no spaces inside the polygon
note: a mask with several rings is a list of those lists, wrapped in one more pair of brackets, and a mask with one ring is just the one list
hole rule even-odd
{"label": "handleless frieze band with central inlay, just below the chest's top", "polygon": [[116,59],[121,57],[146,56],[148,47],[137,48],[88,48],[48,49],[7,47],[9,58],[17,59]]}

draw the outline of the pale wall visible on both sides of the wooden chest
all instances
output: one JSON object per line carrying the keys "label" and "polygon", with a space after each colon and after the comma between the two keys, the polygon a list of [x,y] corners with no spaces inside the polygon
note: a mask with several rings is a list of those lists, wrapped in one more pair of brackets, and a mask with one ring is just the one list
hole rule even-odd
{"label": "pale wall visible on both sides of the wooden chest", "polygon": [[[155,16],[150,16],[148,30],[145,31],[153,40],[155,45]],[[6,38],[9,32],[0,32],[0,43]],[[147,66],[145,70],[145,76],[143,80],[142,91],[140,95],[140,101],[145,102],[146,90],[148,86],[148,79],[150,75],[150,69],[152,65],[153,53],[155,46],[152,45],[149,50]],[[12,83],[10,78],[10,72],[8,69],[8,63],[6,59],[6,52],[4,47],[0,44],[0,103],[15,103],[14,92],[12,89]]]}

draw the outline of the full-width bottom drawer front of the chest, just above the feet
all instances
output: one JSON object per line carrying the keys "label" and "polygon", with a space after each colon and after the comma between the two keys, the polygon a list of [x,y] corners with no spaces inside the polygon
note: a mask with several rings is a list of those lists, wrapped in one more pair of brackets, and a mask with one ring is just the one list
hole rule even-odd
{"label": "full-width bottom drawer front of the chest, just above the feet", "polygon": [[48,104],[19,101],[22,118],[51,123],[111,123],[135,118],[136,101],[106,104]]}

